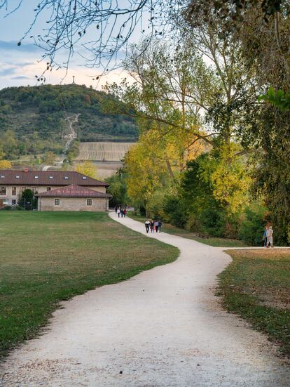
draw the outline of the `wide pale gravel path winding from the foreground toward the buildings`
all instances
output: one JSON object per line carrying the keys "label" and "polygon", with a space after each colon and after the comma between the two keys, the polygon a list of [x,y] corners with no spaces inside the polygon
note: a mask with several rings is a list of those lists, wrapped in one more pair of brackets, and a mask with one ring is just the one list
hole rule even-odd
{"label": "wide pale gravel path winding from the foreground toward the buildings", "polygon": [[[142,223],[110,216],[145,235]],[[177,261],[62,303],[46,332],[8,357],[1,386],[290,386],[275,346],[214,296],[230,256],[164,232],[148,237],[178,247]]]}

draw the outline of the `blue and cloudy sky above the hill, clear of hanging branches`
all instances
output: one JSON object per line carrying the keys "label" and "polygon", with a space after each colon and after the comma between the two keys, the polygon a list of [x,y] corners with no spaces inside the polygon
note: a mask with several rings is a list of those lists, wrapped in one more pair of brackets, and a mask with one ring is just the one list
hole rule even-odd
{"label": "blue and cloudy sky above the hill, clear of hanging branches", "polygon": [[[46,67],[47,60],[41,61],[43,51],[32,43],[33,39],[27,37],[22,41],[21,46],[18,46],[18,41],[34,20],[34,8],[36,8],[38,1],[23,0],[18,11],[6,16],[18,3],[19,0],[8,0],[8,10],[0,9],[0,89],[10,86],[34,86],[37,84],[36,75],[39,76]],[[44,14],[39,23],[34,26],[32,32],[29,33],[29,36],[39,34],[43,25],[46,26],[46,15]],[[140,37],[141,35],[138,32],[134,34],[134,39]],[[102,74],[103,70],[101,68],[85,67],[85,61],[79,55],[80,53],[83,53],[83,48],[78,46],[69,65],[67,76],[63,81],[65,70],[53,70],[53,72],[46,72],[46,84],[60,84],[61,82],[62,84],[70,84],[74,75],[77,84],[102,88],[102,84],[105,84],[106,81],[118,82],[127,76],[119,68],[106,73],[100,81],[94,81],[93,78]],[[65,52],[60,53],[58,56],[60,61],[64,61],[66,58],[67,53]]]}

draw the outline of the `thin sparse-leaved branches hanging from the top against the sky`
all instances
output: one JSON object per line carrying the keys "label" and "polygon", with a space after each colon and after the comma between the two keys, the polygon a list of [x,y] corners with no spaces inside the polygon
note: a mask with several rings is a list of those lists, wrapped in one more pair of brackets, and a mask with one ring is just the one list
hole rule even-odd
{"label": "thin sparse-leaved branches hanging from the top against the sky", "polygon": [[[0,0],[0,9],[7,9],[10,3],[9,0]],[[21,5],[22,0],[8,13],[18,11]],[[75,47],[80,45],[87,51],[85,57],[90,67],[113,67],[119,51],[127,50],[136,29],[142,34],[148,32],[149,41],[153,36],[162,37],[168,15],[179,8],[181,4],[178,0],[123,0],[122,4],[118,0],[39,0],[32,25],[23,34],[18,46],[30,34],[36,46],[44,52],[46,71],[53,67],[68,68]],[[31,35],[32,27],[43,15],[46,17],[46,28],[37,37]],[[90,30],[96,38],[86,40]],[[64,63],[57,58],[60,49],[67,50]],[[45,81],[44,74],[37,80]]]}

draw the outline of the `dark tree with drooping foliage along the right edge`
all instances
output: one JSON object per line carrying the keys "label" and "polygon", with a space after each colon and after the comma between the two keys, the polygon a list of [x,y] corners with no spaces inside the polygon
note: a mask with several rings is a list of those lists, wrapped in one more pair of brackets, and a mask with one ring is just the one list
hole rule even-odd
{"label": "dark tree with drooping foliage along the right edge", "polygon": [[226,41],[230,37],[240,46],[259,94],[265,96],[265,103],[258,106],[256,122],[244,130],[251,145],[259,150],[252,159],[255,164],[253,189],[270,209],[277,242],[285,243],[287,238],[290,241],[289,4],[287,1],[249,0],[244,1],[240,9],[233,8],[233,13],[228,13],[219,12],[226,9],[223,5],[228,6],[228,1],[207,1],[209,18],[205,16],[205,8],[200,7],[205,5],[204,1],[192,0],[191,4],[196,6],[188,14],[190,24],[195,28],[205,19],[215,20],[221,39]]}

